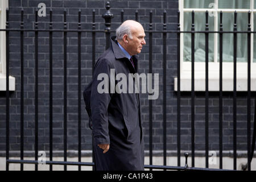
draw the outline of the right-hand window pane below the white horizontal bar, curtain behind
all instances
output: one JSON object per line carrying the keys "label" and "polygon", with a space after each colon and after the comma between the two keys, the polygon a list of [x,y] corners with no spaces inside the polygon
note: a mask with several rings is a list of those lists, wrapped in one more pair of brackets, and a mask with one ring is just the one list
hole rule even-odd
{"label": "right-hand window pane below the white horizontal bar, curtain behind", "polygon": [[[224,31],[233,31],[234,28],[234,13],[223,13],[222,24]],[[219,16],[220,17],[220,16]],[[247,13],[237,13],[237,30],[247,30]],[[234,36],[232,33],[223,34],[223,54],[222,61],[233,62],[233,45]],[[219,43],[218,43],[219,46]],[[218,61],[219,61],[218,53]],[[237,62],[247,62],[247,34],[237,34]]]}

